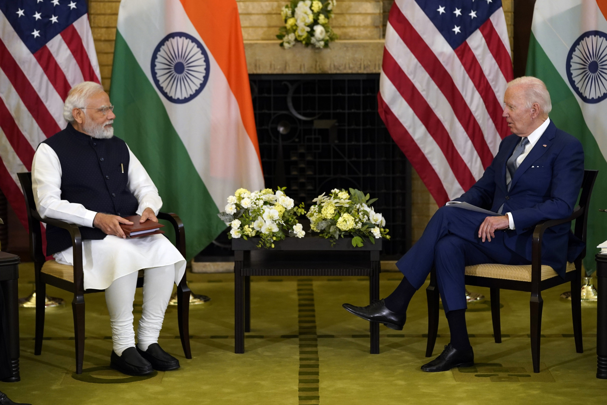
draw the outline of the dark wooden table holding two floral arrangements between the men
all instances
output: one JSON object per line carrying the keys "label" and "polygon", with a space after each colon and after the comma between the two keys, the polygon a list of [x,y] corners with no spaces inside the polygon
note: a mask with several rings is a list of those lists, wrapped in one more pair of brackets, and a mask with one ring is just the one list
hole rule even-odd
{"label": "dark wooden table holding two floral arrangements between the men", "polygon": [[[250,331],[251,276],[368,276],[369,302],[379,299],[379,251],[365,240],[355,248],[351,239],[331,246],[322,237],[287,237],[273,249],[257,248],[259,239],[232,239],[234,250],[234,353],[245,352],[245,332]],[[344,314],[345,316],[345,314]],[[379,353],[379,324],[370,322],[371,354]]]}

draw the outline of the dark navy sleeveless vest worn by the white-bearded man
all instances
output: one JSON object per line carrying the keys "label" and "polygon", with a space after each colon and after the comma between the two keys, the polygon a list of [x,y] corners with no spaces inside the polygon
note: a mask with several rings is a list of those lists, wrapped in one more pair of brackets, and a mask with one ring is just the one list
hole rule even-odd
{"label": "dark navy sleeveless vest worn by the white-bearded man", "polygon": [[[129,191],[129,149],[117,137],[92,138],[76,131],[71,124],[44,141],[53,148],[61,163],[61,199],[80,203],[98,213],[126,217],[135,215],[138,202]],[[97,228],[80,226],[82,239],[103,239]],[[47,225],[46,254],[72,246],[67,230]]]}

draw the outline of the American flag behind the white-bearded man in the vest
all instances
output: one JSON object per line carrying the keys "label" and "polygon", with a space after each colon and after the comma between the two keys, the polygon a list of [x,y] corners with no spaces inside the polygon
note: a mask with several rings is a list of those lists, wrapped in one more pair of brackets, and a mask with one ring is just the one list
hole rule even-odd
{"label": "American flag behind the white-bearded man in the vest", "polygon": [[0,11],[0,188],[27,229],[17,173],[66,127],[67,92],[101,75],[86,0],[0,0]]}

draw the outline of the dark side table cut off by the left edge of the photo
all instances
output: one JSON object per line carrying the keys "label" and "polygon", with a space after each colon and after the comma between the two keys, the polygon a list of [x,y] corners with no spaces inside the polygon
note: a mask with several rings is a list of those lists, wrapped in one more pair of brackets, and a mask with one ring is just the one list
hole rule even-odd
{"label": "dark side table cut off by the left edge of the photo", "polygon": [[19,279],[19,256],[0,251],[0,288],[4,295],[4,311],[6,327],[4,331],[8,344],[8,356],[13,376],[3,379],[5,383],[21,381],[19,376],[19,294],[17,283]]}

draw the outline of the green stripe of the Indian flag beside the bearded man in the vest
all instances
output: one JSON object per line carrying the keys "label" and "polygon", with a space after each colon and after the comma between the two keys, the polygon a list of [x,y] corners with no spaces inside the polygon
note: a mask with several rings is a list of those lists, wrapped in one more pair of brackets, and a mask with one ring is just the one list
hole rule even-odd
{"label": "green stripe of the Indian flag beside the bearded man in the vest", "polygon": [[114,133],[148,171],[162,197],[162,211],[183,220],[189,260],[226,226],[162,101],[118,31],[110,95],[117,116]]}

